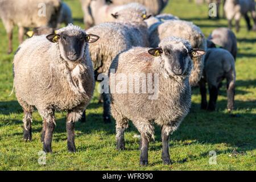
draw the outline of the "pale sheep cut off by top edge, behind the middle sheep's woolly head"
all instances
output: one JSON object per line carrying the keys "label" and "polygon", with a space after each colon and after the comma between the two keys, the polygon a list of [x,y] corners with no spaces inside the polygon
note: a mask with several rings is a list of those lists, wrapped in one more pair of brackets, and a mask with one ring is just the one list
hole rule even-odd
{"label": "pale sheep cut off by top edge, behind the middle sheep's woolly head", "polygon": [[106,0],[80,0],[82,10],[84,11],[84,23],[86,26],[91,27],[93,24],[102,22],[113,21],[112,12],[118,11],[120,5],[126,5],[127,3],[141,3],[147,8],[149,14],[159,14],[167,5],[168,0],[118,0],[110,1],[107,3]]}

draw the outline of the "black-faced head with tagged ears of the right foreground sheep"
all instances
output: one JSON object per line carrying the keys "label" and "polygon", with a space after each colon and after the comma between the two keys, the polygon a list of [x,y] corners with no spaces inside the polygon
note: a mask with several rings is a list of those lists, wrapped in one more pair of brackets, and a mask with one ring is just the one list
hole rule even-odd
{"label": "black-faced head with tagged ears of the right foreground sheep", "polygon": [[192,57],[203,56],[205,51],[193,49],[187,40],[171,37],[163,39],[158,48],[150,49],[148,53],[163,60],[168,75],[188,76],[193,65]]}

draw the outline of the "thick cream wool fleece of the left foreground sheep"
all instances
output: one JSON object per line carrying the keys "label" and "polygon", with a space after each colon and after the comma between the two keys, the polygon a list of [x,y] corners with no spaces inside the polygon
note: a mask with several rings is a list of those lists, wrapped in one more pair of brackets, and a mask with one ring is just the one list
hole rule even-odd
{"label": "thick cream wool fleece of the left foreground sheep", "polygon": [[[76,35],[79,27],[60,29]],[[93,95],[94,75],[88,44],[84,56],[73,63],[60,55],[59,43],[51,43],[45,35],[34,36],[20,45],[14,57],[14,87],[20,105],[26,111],[35,106],[44,117],[47,109],[80,110]]]}

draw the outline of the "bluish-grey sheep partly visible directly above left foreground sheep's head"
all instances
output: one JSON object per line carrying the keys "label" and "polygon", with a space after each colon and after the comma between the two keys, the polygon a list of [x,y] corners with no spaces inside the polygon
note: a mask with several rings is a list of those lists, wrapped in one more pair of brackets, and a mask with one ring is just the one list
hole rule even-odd
{"label": "bluish-grey sheep partly visible directly above left foreground sheep's head", "polygon": [[64,2],[61,2],[60,16],[58,19],[58,27],[60,27],[61,23],[65,23],[66,26],[69,23],[73,23],[72,11],[70,7]]}

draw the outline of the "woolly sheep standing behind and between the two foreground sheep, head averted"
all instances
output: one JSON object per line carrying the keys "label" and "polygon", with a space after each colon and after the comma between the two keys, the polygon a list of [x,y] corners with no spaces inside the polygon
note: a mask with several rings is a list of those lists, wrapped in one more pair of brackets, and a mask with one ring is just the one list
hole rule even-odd
{"label": "woolly sheep standing behind and between the two foreground sheep, head averted", "polygon": [[[101,39],[89,47],[94,64],[96,78],[101,73],[108,74],[110,64],[118,53],[133,46],[148,47],[147,24],[148,18],[144,6],[130,3],[122,6],[113,16],[116,22],[101,23],[89,28],[86,32],[93,32]],[[110,122],[110,106],[108,95],[102,93],[104,105],[104,122]],[[82,121],[85,121],[85,114]]]}

